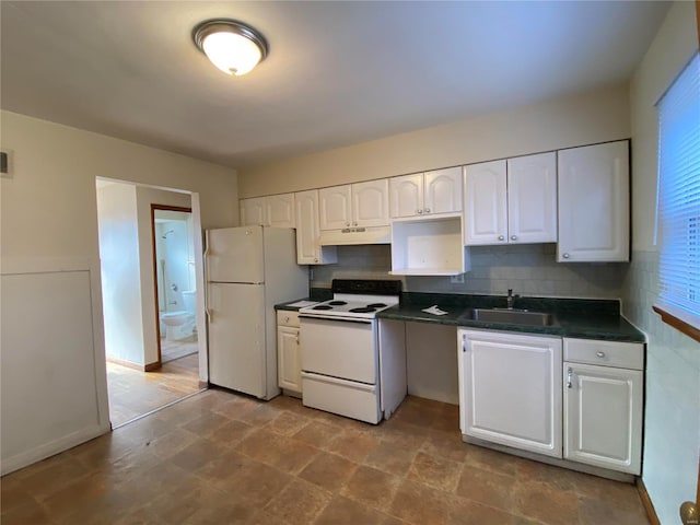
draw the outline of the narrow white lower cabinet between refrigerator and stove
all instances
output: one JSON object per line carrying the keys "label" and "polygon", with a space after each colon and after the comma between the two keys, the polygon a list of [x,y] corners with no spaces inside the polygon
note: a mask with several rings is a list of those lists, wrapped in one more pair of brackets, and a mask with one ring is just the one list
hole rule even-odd
{"label": "narrow white lower cabinet between refrigerator and stove", "polygon": [[298,312],[277,313],[277,373],[280,388],[288,394],[302,394]]}

